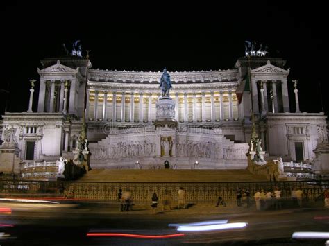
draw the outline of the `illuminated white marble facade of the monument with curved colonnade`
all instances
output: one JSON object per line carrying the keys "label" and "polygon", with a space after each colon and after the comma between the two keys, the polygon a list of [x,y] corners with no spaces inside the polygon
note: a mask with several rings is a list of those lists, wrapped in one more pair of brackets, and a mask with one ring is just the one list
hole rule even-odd
{"label": "illuminated white marble facade of the monument with curved colonnade", "polygon": [[22,160],[72,157],[83,114],[94,168],[130,168],[135,161],[154,168],[166,159],[175,168],[193,168],[195,161],[199,168],[246,168],[251,105],[265,119],[258,134],[269,156],[312,161],[319,138],[328,141],[318,130],[326,129],[326,116],[290,112],[289,69],[277,58],[239,58],[228,70],[169,71],[178,126],[162,130],[153,124],[160,71],[91,69],[83,58],[42,64],[37,112],[3,116],[3,130],[18,129]]}

